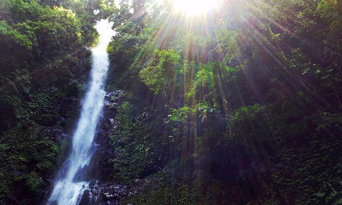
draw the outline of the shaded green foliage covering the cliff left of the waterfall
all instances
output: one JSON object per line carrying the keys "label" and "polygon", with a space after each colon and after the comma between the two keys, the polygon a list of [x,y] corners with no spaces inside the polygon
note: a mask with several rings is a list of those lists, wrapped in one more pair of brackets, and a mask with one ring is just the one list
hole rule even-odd
{"label": "shaded green foliage covering the cliff left of the waterfall", "polygon": [[60,129],[70,132],[78,115],[93,25],[115,9],[104,1],[0,2],[1,204],[43,199],[70,141]]}

